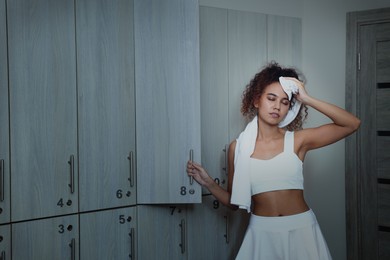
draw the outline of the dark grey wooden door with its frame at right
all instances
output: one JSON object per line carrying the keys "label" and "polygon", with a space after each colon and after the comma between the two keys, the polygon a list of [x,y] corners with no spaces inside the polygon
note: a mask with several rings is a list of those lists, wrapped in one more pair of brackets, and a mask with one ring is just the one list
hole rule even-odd
{"label": "dark grey wooden door with its frame at right", "polygon": [[347,143],[348,257],[382,260],[390,259],[390,9],[357,16],[346,98],[362,125]]}

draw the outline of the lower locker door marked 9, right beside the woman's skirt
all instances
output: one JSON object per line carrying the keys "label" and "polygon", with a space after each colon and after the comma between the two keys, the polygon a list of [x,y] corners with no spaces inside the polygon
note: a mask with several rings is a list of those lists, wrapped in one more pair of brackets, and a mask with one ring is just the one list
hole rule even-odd
{"label": "lower locker door marked 9, right beside the woman's skirt", "polygon": [[249,216],[242,210],[223,206],[212,195],[203,196],[202,204],[189,205],[188,259],[234,259]]}

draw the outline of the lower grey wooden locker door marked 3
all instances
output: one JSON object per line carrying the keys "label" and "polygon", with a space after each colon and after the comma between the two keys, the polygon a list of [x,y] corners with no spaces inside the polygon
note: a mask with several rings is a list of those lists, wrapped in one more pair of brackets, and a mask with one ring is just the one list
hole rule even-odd
{"label": "lower grey wooden locker door marked 3", "polygon": [[12,224],[12,259],[79,259],[78,216]]}

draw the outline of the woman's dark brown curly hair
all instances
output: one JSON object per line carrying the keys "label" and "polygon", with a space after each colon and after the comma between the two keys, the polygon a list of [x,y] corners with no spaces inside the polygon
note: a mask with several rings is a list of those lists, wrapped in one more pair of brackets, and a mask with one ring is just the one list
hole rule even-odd
{"label": "woman's dark brown curly hair", "polygon": [[[255,107],[255,101],[264,93],[265,88],[274,83],[279,82],[279,77],[293,77],[298,80],[304,81],[303,75],[298,73],[294,68],[283,68],[277,62],[272,61],[267,64],[260,72],[258,72],[246,85],[242,95],[241,113],[252,119],[257,115],[257,108]],[[300,78],[301,76],[301,78]],[[294,105],[296,99],[293,97],[290,102],[290,108]],[[301,106],[301,109],[297,117],[285,128],[289,131],[302,129],[304,120],[307,118],[307,107]]]}

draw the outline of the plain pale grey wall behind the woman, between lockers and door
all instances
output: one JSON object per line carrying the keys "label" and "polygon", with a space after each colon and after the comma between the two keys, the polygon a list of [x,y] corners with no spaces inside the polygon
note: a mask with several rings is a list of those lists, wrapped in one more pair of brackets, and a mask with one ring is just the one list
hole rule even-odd
{"label": "plain pale grey wall behind the woman, between lockers and door", "polygon": [[[346,13],[390,7],[388,0],[199,0],[214,6],[302,19],[303,73],[309,93],[345,107]],[[249,80],[249,79],[248,79]],[[313,109],[306,127],[329,122]],[[335,260],[346,259],[344,141],[310,152],[305,193]]]}

